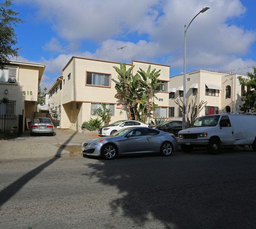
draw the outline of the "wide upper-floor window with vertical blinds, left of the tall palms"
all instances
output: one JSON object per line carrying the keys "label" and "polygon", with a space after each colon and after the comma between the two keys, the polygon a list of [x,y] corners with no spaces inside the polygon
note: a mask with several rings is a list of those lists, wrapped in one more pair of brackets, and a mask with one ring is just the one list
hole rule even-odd
{"label": "wide upper-floor window with vertical blinds, left of the tall palms", "polygon": [[101,73],[86,73],[86,84],[110,87],[110,75]]}

